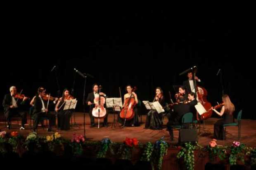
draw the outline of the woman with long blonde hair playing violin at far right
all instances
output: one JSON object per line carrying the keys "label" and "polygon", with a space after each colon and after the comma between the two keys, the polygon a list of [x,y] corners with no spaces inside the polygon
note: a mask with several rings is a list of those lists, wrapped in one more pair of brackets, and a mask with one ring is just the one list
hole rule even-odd
{"label": "woman with long blonde hair playing violin at far right", "polygon": [[214,138],[218,140],[223,140],[223,133],[224,133],[223,124],[234,122],[234,117],[233,117],[233,113],[235,111],[234,104],[230,101],[230,98],[227,94],[224,94],[222,96],[222,101],[223,101],[223,104],[220,105],[222,106],[220,112],[216,110],[216,107],[211,108],[219,116],[224,115],[224,119],[220,119],[214,124]]}

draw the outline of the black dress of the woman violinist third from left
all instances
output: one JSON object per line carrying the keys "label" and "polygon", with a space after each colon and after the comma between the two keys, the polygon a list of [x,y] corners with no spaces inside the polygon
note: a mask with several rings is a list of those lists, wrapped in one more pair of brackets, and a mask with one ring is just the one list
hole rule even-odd
{"label": "black dress of the woman violinist third from left", "polygon": [[[59,102],[59,107],[62,106],[64,103],[64,100]],[[62,108],[60,108],[59,113],[57,114],[58,117],[58,128],[60,130],[69,130],[70,129],[70,117],[73,113],[72,109],[69,110],[63,110],[64,104]]]}

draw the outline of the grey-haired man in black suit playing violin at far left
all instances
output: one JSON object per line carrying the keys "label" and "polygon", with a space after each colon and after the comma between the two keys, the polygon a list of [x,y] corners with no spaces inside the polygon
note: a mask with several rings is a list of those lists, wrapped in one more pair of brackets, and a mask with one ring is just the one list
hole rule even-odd
{"label": "grey-haired man in black suit playing violin at far left", "polygon": [[21,111],[20,106],[25,104],[28,99],[26,96],[20,99],[21,95],[17,93],[15,86],[10,87],[10,94],[6,94],[3,100],[2,106],[4,107],[5,117],[7,119],[7,128],[10,129],[10,121],[14,115],[19,115],[21,117],[21,127],[20,130],[25,129],[25,124],[27,122],[26,112]]}

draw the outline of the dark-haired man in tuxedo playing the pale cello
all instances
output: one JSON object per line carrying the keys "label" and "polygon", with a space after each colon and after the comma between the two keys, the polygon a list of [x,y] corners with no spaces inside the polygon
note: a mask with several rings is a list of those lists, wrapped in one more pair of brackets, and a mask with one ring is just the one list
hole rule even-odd
{"label": "dark-haired man in tuxedo playing the pale cello", "polygon": [[[99,93],[99,86],[97,84],[92,85],[92,92],[88,94],[88,97],[86,100],[86,103],[88,104],[88,106],[90,106],[90,112],[89,112],[90,122],[91,122],[90,127],[95,127],[94,117],[92,116],[92,109],[95,107],[94,99],[99,96],[107,97],[106,94],[102,92]],[[105,127],[108,127],[107,117],[108,117],[108,113],[104,117],[103,126]]]}

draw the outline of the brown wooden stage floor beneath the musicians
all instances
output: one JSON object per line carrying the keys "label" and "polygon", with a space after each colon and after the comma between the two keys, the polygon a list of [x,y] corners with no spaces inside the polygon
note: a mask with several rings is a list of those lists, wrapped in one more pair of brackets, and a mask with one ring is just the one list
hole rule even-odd
{"label": "brown wooden stage floor beneath the musicians", "polygon": [[[78,135],[83,135],[83,113],[76,112],[76,124],[78,126],[72,126],[69,131],[60,131],[54,128],[54,132],[59,132],[62,134],[64,138],[71,139],[73,134],[76,133]],[[1,114],[2,115],[2,114]],[[116,128],[111,128],[113,122],[113,115],[109,114],[109,127],[102,127],[103,119],[100,120],[100,129],[97,127],[90,128],[90,118],[88,114],[85,114],[85,135],[89,140],[101,140],[102,138],[110,138],[115,142],[122,142],[126,137],[128,138],[137,138],[139,142],[155,142],[162,136],[165,136],[165,140],[171,144],[178,143],[178,131],[174,130],[174,141],[170,140],[170,135],[166,129],[163,130],[151,130],[144,129],[146,116],[142,115],[142,122],[138,127],[125,127],[120,129],[119,126]],[[116,115],[117,116],[117,115]],[[73,119],[73,117],[72,117]],[[140,117],[139,117],[140,119]],[[205,131],[209,132],[209,135],[199,136],[198,142],[200,145],[208,145],[211,139],[213,138],[213,124],[217,121],[216,118],[210,118],[205,121]],[[29,123],[28,119],[28,123]],[[97,122],[97,119],[95,119]],[[168,119],[165,117],[164,125],[168,122]],[[20,121],[19,121],[20,123]],[[8,130],[5,128],[5,122],[0,122],[0,131],[18,131],[24,136],[27,136],[28,133],[31,132],[29,124],[25,126],[26,130],[19,130],[20,125],[17,125],[17,121],[12,121],[12,129]],[[165,127],[165,126],[164,126]],[[203,124],[201,124],[201,131],[203,130]],[[199,131],[199,130],[198,130]],[[227,139],[225,141],[219,140],[217,141],[218,145],[230,145],[230,143],[234,140],[238,140],[238,129],[237,127],[228,127],[227,128]],[[42,127],[38,127],[38,135],[39,136],[47,136],[52,134],[53,132],[46,132]],[[249,147],[256,146],[256,120],[251,119],[242,119],[241,122],[241,138],[240,142],[246,144]]]}

